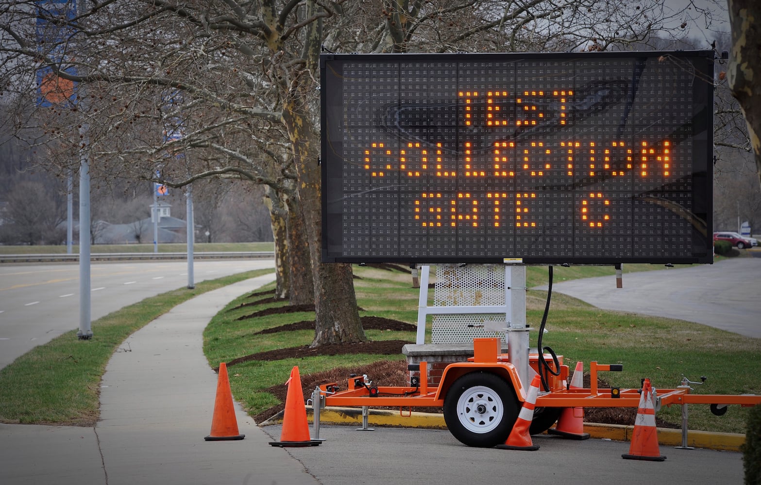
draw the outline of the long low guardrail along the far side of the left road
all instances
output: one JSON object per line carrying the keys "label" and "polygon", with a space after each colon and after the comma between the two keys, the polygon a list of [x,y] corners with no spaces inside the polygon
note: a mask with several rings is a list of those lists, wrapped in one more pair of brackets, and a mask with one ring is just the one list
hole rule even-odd
{"label": "long low guardrail along the far side of the left road", "polygon": [[[196,259],[249,259],[274,258],[272,251],[218,251],[193,252]],[[90,255],[91,261],[135,261],[141,259],[187,259],[186,252],[96,252]],[[78,254],[46,255],[0,255],[0,263],[37,263],[37,262],[78,262]]]}

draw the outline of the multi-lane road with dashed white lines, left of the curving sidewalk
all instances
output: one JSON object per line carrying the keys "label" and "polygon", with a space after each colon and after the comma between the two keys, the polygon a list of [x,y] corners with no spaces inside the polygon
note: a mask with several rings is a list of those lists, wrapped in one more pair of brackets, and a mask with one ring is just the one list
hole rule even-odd
{"label": "multi-lane road with dashed white lines, left of the curving sidewalk", "polygon": [[[260,268],[273,259],[194,262],[199,281]],[[91,319],[187,286],[187,262],[94,263]],[[33,347],[79,328],[79,266],[0,265],[0,369]]]}

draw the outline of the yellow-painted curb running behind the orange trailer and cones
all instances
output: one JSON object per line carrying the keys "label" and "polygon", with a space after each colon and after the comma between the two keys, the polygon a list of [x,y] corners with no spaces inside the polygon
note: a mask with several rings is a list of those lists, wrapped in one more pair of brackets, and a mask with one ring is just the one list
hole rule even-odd
{"label": "yellow-painted curb running behind the orange trailer and cones", "polygon": [[[311,423],[313,411],[307,406],[307,420]],[[283,411],[270,417],[259,426],[282,424]],[[351,424],[362,423],[362,410],[356,407],[325,407],[320,410],[320,423],[323,424]],[[419,413],[416,411],[401,412],[384,409],[368,410],[368,425],[372,426],[398,426],[403,428],[427,428],[446,429],[444,416],[441,414]],[[584,423],[584,432],[592,438],[613,439],[615,441],[630,441],[634,433],[634,426],[622,424]],[[745,435],[739,433],[715,433],[711,431],[687,432],[687,445],[693,448],[705,448],[739,452],[740,446],[745,442]],[[658,428],[658,443],[664,446],[681,446],[682,430]]]}

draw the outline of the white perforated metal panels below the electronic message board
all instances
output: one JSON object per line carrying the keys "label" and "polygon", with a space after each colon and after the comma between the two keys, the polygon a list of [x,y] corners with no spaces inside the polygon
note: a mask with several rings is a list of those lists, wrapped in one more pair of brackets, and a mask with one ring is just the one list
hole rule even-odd
{"label": "white perforated metal panels below the electronic message board", "polygon": [[[438,265],[434,285],[435,306],[505,305],[505,267],[501,265]],[[505,332],[488,331],[484,322],[506,322],[504,313],[457,313],[433,315],[432,344],[463,344],[473,338],[496,337],[507,341]]]}

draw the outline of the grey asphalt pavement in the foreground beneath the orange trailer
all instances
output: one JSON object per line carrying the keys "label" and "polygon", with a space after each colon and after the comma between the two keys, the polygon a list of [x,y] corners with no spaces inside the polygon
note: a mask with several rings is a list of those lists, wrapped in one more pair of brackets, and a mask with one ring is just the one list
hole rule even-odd
{"label": "grey asphalt pavement in the foreground beneath the orange trailer", "polygon": [[[273,439],[280,426],[264,426]],[[666,461],[632,461],[628,442],[587,439],[568,441],[556,436],[532,436],[535,452],[469,448],[447,430],[322,426],[316,447],[291,448],[307,473],[321,485],[648,485],[651,483],[743,483],[742,454],[707,449],[681,450],[661,446]]]}

